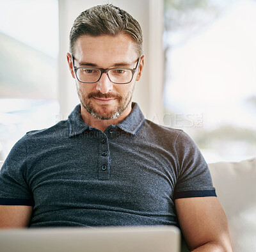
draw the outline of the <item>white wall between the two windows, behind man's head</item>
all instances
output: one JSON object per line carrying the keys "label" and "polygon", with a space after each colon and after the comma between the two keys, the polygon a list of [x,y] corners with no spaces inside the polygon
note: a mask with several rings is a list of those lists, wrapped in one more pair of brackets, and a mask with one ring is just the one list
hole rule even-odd
{"label": "white wall between the two windows, behind man's head", "polygon": [[59,0],[60,54],[58,90],[60,114],[63,119],[79,103],[76,85],[68,72],[66,54],[68,36],[79,13],[97,4],[113,3],[129,12],[141,24],[144,38],[145,67],[141,80],[136,84],[133,101],[138,102],[145,117],[154,122],[163,118],[163,0]]}

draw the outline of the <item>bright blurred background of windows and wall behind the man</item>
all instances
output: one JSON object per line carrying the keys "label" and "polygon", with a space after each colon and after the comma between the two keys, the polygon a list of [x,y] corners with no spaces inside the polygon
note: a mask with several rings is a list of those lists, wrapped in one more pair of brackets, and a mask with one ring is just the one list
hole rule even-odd
{"label": "bright blurred background of windows and wall behind the man", "polygon": [[143,29],[134,100],[145,117],[187,132],[207,162],[255,157],[255,0],[0,0],[0,160],[79,103],[68,34],[80,12],[102,3]]}

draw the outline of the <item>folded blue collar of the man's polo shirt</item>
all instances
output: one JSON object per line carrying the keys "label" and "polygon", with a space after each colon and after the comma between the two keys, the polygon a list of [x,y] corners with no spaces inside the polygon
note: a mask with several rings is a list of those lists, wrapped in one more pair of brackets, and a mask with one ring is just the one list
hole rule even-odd
{"label": "folded blue collar of the man's polo shirt", "polygon": [[[136,135],[145,122],[145,118],[140,110],[140,107],[135,102],[132,103],[132,111],[122,122],[116,125],[118,128],[127,133]],[[84,130],[91,130],[93,127],[84,123],[81,116],[81,105],[78,104],[72,113],[68,116],[68,136],[76,136],[84,132]]]}

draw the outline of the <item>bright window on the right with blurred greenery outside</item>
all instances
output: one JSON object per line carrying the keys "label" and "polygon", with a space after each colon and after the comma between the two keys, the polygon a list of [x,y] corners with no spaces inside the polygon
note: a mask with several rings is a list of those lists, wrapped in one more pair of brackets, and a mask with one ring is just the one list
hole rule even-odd
{"label": "bright window on the right with blurred greenery outside", "polygon": [[207,162],[256,153],[255,13],[253,0],[164,1],[165,124]]}

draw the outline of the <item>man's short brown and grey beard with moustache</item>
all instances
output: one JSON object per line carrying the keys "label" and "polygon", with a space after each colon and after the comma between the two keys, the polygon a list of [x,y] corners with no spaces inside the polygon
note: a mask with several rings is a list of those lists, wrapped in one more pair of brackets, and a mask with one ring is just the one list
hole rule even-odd
{"label": "man's short brown and grey beard with moustache", "polygon": [[[88,113],[92,114],[96,118],[100,120],[111,120],[118,118],[128,107],[132,100],[132,93],[134,91],[135,84],[132,84],[132,88],[129,92],[121,96],[117,93],[101,93],[100,91],[89,93],[86,97],[81,93],[79,87],[77,86],[77,94],[80,99],[80,102],[84,109],[88,111]],[[93,106],[92,98],[115,98],[118,102],[117,106],[113,109],[109,109],[108,105],[102,105],[99,109],[96,109]]]}

